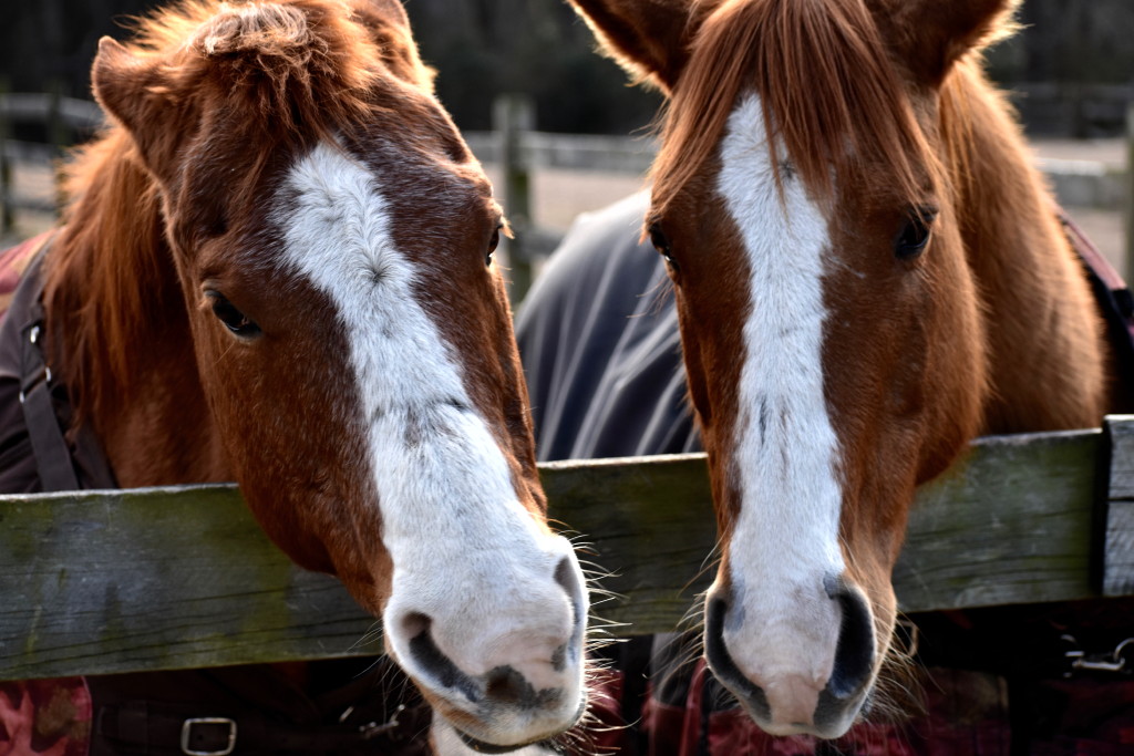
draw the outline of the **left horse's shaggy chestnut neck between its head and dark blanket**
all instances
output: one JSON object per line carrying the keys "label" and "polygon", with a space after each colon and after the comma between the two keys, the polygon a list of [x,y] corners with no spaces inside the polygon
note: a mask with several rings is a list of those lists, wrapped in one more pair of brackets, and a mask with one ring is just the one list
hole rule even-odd
{"label": "left horse's shaggy chestnut neck between its head and dark blanket", "polygon": [[69,184],[77,199],[46,263],[44,308],[76,423],[93,427],[125,487],[227,479],[153,179],[111,134]]}

